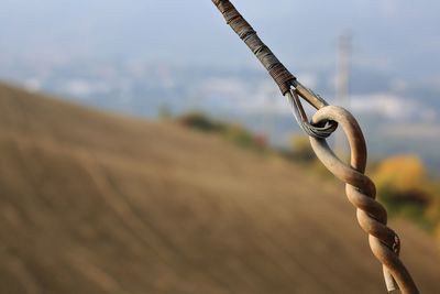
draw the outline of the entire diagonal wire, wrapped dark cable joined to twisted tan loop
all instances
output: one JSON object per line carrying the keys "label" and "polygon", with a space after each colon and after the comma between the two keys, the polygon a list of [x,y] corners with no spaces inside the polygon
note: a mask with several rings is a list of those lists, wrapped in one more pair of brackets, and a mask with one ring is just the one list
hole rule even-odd
{"label": "entire diagonal wire, wrapped dark cable joined to twisted tan loop", "polygon": [[[212,2],[220,10],[227,23],[267,69],[282,94],[287,96],[299,126],[310,137],[311,146],[318,159],[339,179],[346,183],[345,193],[349,200],[356,207],[358,221],[361,228],[369,233],[373,254],[383,264],[387,290],[393,292],[399,288],[404,294],[419,293],[411,275],[399,260],[400,240],[386,226],[387,213],[375,200],[376,187],[364,174],[366,166],[365,139],[354,117],[341,107],[329,106],[319,95],[302,86],[260,40],[256,32],[229,0],[212,0]],[[311,122],[307,119],[299,97],[318,110]],[[338,159],[326,141],[326,138],[338,126],[342,127],[350,143],[350,165]]]}

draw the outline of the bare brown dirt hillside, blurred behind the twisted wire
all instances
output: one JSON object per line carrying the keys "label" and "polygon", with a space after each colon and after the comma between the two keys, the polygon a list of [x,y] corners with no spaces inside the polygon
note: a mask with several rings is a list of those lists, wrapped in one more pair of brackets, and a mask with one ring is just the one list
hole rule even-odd
{"label": "bare brown dirt hillside, blurred behind the twisted wire", "polygon": [[[440,293],[432,241],[395,227]],[[341,185],[0,86],[1,293],[385,293],[381,272]]]}

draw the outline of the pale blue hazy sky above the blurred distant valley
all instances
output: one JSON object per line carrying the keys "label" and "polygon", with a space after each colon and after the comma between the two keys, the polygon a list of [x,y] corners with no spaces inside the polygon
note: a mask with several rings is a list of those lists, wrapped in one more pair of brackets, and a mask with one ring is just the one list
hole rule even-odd
{"label": "pale blue hazy sky above the blurred distant valley", "polygon": [[[333,66],[337,36],[349,30],[354,65],[415,79],[440,76],[440,1],[234,3],[293,67]],[[210,0],[0,0],[0,61],[132,58],[257,66]]]}

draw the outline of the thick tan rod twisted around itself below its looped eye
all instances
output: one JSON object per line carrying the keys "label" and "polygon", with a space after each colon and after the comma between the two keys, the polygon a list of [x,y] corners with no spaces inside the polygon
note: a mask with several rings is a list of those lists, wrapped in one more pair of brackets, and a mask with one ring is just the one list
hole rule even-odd
{"label": "thick tan rod twisted around itself below its looped eye", "polygon": [[336,106],[319,109],[312,118],[312,124],[328,120],[337,121],[342,127],[351,149],[351,165],[338,159],[326,139],[310,137],[315,153],[332,174],[346,183],[346,196],[356,207],[356,218],[361,228],[369,233],[373,254],[383,264],[388,292],[399,288],[404,294],[419,293],[409,272],[399,260],[400,241],[397,235],[386,226],[387,214],[385,208],[375,200],[375,185],[364,175],[366,144],[360,126],[349,111]]}

